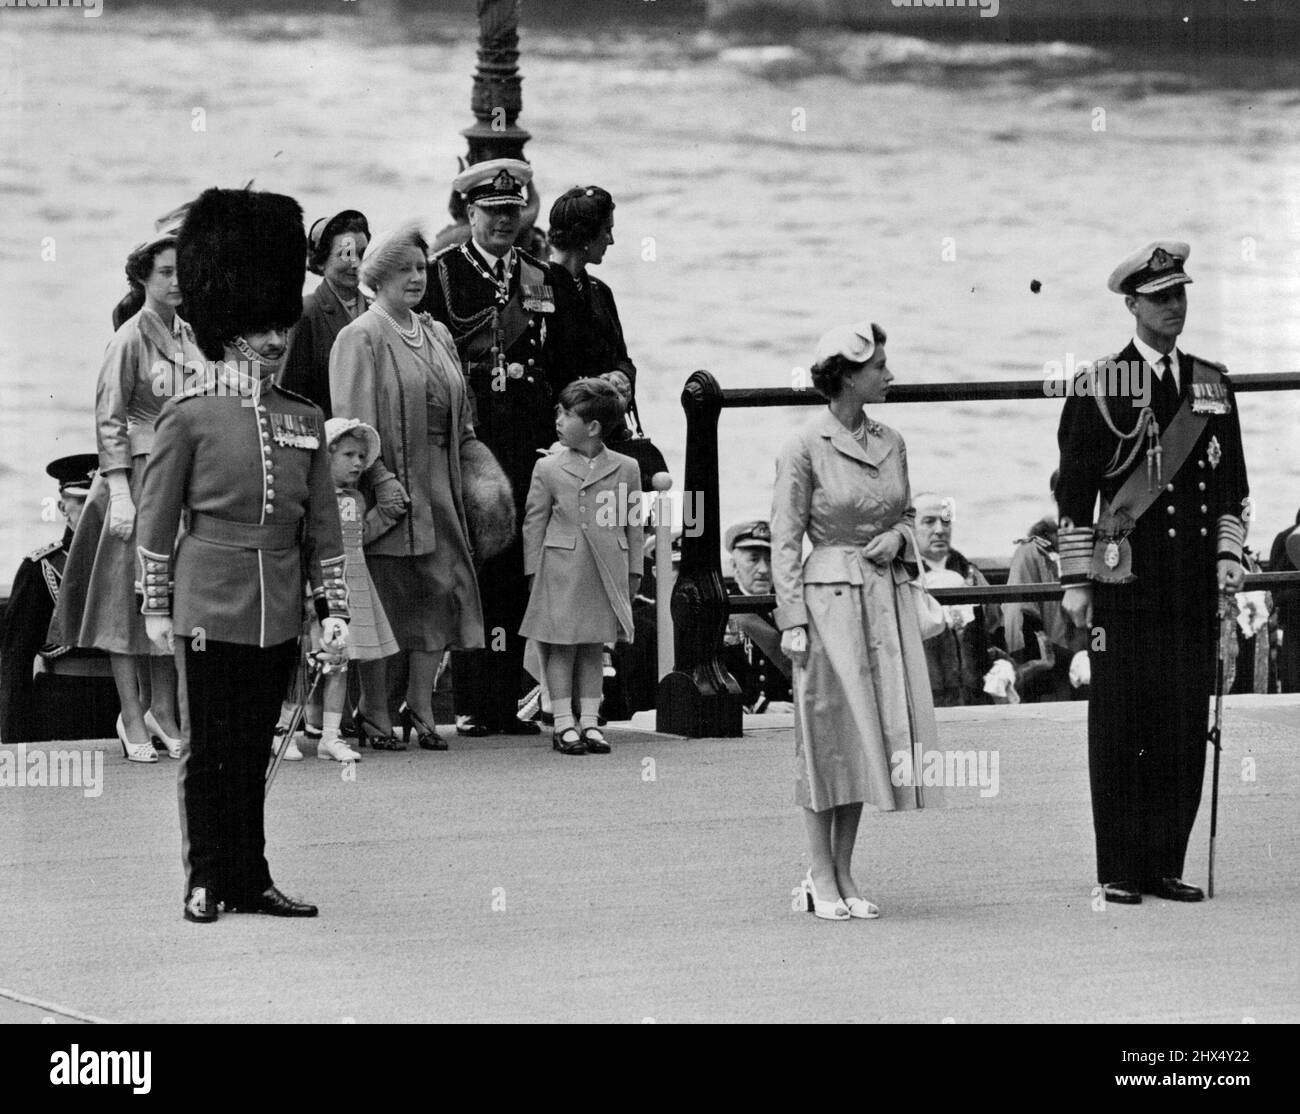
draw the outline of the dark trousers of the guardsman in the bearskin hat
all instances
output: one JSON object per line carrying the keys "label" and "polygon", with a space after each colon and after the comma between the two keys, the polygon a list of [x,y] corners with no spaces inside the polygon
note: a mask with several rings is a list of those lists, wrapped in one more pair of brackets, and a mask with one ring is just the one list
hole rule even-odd
{"label": "dark trousers of the guardsman in the bearskin hat", "polygon": [[263,796],[280,703],[296,640],[260,649],[208,641],[185,646],[190,750],[181,760],[181,855],[186,892],[250,900],[270,883]]}

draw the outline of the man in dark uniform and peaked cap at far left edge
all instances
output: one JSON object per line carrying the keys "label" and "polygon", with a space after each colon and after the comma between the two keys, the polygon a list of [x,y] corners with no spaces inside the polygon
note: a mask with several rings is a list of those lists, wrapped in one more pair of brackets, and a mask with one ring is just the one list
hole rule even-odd
{"label": "man in dark uniform and peaked cap at far left edge", "polygon": [[[108,664],[107,656],[99,650],[77,650],[46,641],[55,604],[58,603],[68,549],[73,543],[73,533],[98,468],[99,456],[92,452],[60,456],[46,468],[46,473],[58,482],[58,512],[64,516],[64,536],[27,554],[13,578],[4,615],[4,637],[0,638],[0,742],[74,737],[68,731],[73,724],[65,724],[65,718],[60,716],[61,708],[55,706],[62,702],[51,699],[53,693],[48,685],[38,684],[38,676],[47,675],[47,680],[52,680],[48,675],[57,672],[58,664],[69,658],[99,658],[105,667]],[[90,681],[83,680],[78,685],[82,689],[78,693],[78,707],[83,715],[86,684]],[[42,689],[46,692],[40,692]],[[51,734],[51,731],[57,734]]]}

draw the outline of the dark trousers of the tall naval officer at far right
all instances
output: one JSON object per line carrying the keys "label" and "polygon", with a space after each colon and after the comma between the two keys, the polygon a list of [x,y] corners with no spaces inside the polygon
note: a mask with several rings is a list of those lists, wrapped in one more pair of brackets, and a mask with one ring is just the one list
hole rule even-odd
{"label": "dark trousers of the tall naval officer at far right", "polygon": [[[1197,608],[1197,611],[1204,608]],[[1205,779],[1214,629],[1096,586],[1088,775],[1097,880],[1182,877]]]}

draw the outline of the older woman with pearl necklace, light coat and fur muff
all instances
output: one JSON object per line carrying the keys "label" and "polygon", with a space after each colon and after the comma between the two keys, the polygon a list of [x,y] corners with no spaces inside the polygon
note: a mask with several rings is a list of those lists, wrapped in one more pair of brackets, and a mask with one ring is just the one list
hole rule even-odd
{"label": "older woman with pearl necklace, light coat and fur muff", "polygon": [[381,233],[361,259],[373,303],[330,351],[337,417],[380,434],[363,494],[390,524],[365,560],[394,637],[410,654],[403,738],[393,732],[385,662],[361,666],[359,737],[404,749],[412,729],[425,750],[446,750],[433,719],[433,685],[446,649],[484,646],[471,528],[480,556],[510,543],[515,506],[491,452],[474,437],[469,394],[446,326],[412,307],[424,296],[428,246],[415,222]]}

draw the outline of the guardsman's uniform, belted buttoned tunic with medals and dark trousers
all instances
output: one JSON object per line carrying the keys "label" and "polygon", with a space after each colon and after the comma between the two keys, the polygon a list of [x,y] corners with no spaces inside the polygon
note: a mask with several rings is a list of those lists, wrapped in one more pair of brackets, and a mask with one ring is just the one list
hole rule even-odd
{"label": "guardsman's uniform, belted buttoned tunic with medals and dark trousers", "polygon": [[138,546],[144,615],[170,615],[178,646],[185,640],[187,887],[254,902],[272,885],[263,786],[296,663],[304,573],[317,614],[347,617],[320,408],[225,367],[170,400],[144,476]]}

